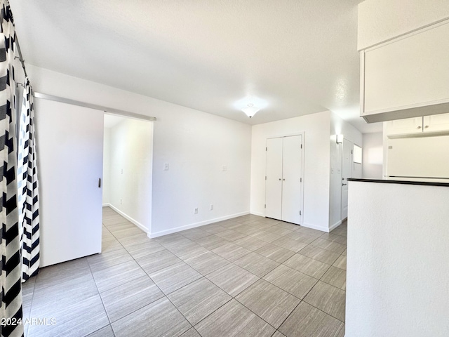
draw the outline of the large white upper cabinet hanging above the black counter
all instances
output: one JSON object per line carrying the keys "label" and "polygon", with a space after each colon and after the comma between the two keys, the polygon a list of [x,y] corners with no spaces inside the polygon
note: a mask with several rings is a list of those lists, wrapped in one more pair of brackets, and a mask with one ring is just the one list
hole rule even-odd
{"label": "large white upper cabinet hanging above the black counter", "polygon": [[448,20],[361,51],[361,117],[375,122],[448,111]]}

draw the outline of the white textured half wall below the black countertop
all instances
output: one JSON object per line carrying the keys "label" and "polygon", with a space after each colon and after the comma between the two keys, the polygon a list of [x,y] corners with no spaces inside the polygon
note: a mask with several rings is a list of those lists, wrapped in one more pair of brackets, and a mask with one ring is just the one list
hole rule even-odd
{"label": "white textured half wall below the black countertop", "polygon": [[349,182],[346,337],[449,336],[449,187]]}

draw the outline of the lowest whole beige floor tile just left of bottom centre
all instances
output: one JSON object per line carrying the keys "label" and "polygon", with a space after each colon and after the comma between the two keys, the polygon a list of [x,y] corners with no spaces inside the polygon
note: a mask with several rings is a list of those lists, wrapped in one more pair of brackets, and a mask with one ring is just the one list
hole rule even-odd
{"label": "lowest whole beige floor tile just left of bottom centre", "polygon": [[204,277],[170,293],[167,297],[192,325],[232,299]]}

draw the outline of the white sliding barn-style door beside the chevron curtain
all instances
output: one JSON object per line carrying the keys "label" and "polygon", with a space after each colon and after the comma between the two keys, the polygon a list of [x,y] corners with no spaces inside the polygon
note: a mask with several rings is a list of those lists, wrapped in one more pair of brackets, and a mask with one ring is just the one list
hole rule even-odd
{"label": "white sliding barn-style door beside the chevron curtain", "polygon": [[101,251],[103,112],[36,99],[41,264]]}

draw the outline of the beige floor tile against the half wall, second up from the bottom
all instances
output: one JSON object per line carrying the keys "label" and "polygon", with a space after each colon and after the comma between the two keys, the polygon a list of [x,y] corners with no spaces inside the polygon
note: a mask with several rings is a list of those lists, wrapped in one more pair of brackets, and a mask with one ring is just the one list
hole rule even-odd
{"label": "beige floor tile against the half wall, second up from the bottom", "polygon": [[311,289],[304,301],[344,322],[346,291],[320,281]]}

